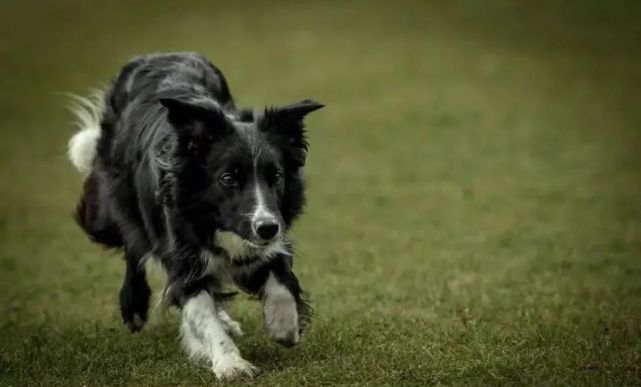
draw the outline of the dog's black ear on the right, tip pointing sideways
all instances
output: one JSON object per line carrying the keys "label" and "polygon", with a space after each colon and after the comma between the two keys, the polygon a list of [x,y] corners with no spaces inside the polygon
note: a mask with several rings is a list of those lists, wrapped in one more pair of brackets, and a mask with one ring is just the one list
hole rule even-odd
{"label": "dog's black ear on the right, tip pointing sideways", "polygon": [[268,133],[298,167],[305,165],[307,139],[303,120],[309,113],[322,108],[318,102],[306,99],[291,105],[265,109],[259,129]]}

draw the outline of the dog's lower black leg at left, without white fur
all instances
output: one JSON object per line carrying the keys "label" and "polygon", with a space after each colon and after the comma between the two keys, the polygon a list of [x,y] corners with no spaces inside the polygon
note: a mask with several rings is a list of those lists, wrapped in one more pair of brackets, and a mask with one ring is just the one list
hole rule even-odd
{"label": "dog's lower black leg at left, without white fur", "polygon": [[120,312],[125,325],[137,332],[145,325],[151,289],[147,283],[143,255],[127,249],[125,280],[120,289]]}

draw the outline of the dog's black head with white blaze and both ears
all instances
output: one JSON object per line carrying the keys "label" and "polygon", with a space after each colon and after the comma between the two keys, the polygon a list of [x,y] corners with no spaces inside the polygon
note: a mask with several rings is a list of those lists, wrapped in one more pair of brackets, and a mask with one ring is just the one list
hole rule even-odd
{"label": "dog's black head with white blaze and both ears", "polygon": [[241,119],[208,98],[160,102],[177,133],[176,157],[187,174],[178,189],[195,201],[196,227],[215,231],[232,258],[280,249],[304,202],[303,120],[323,105],[305,100]]}

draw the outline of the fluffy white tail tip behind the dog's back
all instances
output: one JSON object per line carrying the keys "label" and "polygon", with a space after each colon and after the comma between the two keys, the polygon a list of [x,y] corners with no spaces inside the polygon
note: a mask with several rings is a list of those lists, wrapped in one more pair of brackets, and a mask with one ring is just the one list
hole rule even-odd
{"label": "fluffy white tail tip behind the dog's back", "polygon": [[69,140],[69,160],[82,173],[91,171],[100,139],[100,121],[105,111],[105,92],[93,89],[87,97],[70,94],[69,110],[78,132]]}

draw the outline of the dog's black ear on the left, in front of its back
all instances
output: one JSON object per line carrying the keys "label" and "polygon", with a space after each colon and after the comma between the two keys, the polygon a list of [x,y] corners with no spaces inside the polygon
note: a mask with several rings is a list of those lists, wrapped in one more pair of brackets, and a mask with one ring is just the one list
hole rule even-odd
{"label": "dog's black ear on the left, in front of its back", "polygon": [[167,109],[167,120],[182,139],[211,142],[231,131],[225,113],[213,100],[170,95],[161,96],[159,101]]}

